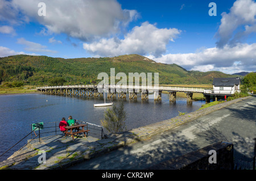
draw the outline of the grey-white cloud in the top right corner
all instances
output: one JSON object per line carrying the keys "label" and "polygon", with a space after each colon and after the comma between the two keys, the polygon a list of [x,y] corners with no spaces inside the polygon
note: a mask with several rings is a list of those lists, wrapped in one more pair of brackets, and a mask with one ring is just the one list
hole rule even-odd
{"label": "grey-white cloud in the top right corner", "polygon": [[219,38],[217,47],[236,45],[250,33],[256,32],[256,2],[252,0],[237,0],[230,12],[223,12],[221,16],[221,24],[216,34]]}

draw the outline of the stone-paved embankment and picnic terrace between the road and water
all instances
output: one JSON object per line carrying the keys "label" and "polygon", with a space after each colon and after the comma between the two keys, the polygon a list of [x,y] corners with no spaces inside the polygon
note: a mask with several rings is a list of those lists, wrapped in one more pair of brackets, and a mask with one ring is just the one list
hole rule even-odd
{"label": "stone-paved embankment and picnic terrace between the road and water", "polygon": [[[200,116],[207,115],[210,112],[220,110],[230,104],[240,102],[250,97],[251,96],[247,96],[246,98],[230,100],[229,102],[204,108],[204,110],[197,110],[185,115],[173,117],[172,119],[131,129],[130,131],[109,134],[107,138],[103,140],[81,141],[86,138],[77,137],[75,141],[72,141],[70,137],[64,138],[63,136],[48,138],[48,142],[44,141],[41,144],[38,144],[37,140],[34,144],[30,144],[30,148],[26,147],[20,151],[16,151],[9,159],[1,162],[0,169],[65,169],[68,166],[92,159],[122,146],[150,139],[150,137],[156,134],[179,127],[179,125],[187,123],[188,121],[195,120]],[[62,146],[60,146],[60,144]],[[46,163],[38,163],[38,158],[40,157],[38,153],[40,150],[47,151]]]}

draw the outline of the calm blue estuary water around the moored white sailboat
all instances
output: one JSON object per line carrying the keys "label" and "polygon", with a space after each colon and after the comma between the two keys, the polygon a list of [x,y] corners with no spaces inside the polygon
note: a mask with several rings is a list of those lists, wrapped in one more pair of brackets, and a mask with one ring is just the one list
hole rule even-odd
{"label": "calm blue estuary water around the moored white sailboat", "polygon": [[[138,128],[179,115],[179,112],[198,110],[205,101],[187,104],[185,98],[177,98],[176,103],[170,103],[168,95],[162,95],[162,102],[154,99],[112,100],[114,103],[123,101],[127,112],[127,129]],[[0,155],[31,132],[32,123],[49,123],[60,121],[62,117],[87,121],[100,125],[104,118],[106,107],[94,108],[93,104],[103,103],[103,98],[84,98],[80,96],[56,96],[46,94],[22,94],[0,96]],[[109,102],[109,100],[106,100]],[[105,131],[106,132],[106,131]],[[31,138],[28,136],[27,138]],[[0,158],[6,159],[14,151],[26,144],[20,142]]]}

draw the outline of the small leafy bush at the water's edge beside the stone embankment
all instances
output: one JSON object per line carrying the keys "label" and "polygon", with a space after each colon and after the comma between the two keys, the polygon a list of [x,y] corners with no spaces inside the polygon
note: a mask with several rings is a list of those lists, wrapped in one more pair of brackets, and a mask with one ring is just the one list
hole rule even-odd
{"label": "small leafy bush at the water's edge beside the stone embankment", "polygon": [[123,102],[119,106],[113,104],[104,112],[104,120],[101,125],[110,133],[118,133],[126,130],[126,111]]}

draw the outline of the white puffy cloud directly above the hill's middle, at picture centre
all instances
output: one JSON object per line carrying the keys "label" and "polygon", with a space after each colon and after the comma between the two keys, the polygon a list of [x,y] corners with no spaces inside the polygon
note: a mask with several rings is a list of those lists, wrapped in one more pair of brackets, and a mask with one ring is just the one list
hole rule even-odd
{"label": "white puffy cloud directly above the hill's middle, at picture centre", "polygon": [[83,47],[90,53],[100,56],[119,56],[120,54],[152,54],[155,57],[166,52],[166,45],[174,41],[180,30],[176,28],[157,28],[148,22],[136,26],[125,35],[124,39],[112,37],[100,39],[93,43],[84,43]]}

